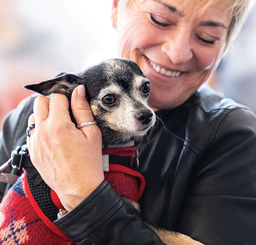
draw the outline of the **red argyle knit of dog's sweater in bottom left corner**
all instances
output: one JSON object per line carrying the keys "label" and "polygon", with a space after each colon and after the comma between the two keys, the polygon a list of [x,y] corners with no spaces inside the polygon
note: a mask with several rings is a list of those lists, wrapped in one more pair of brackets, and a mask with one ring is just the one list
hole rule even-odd
{"label": "red argyle knit of dog's sweater in bottom left corner", "polygon": [[0,203],[0,244],[74,244],[37,206],[23,175]]}

